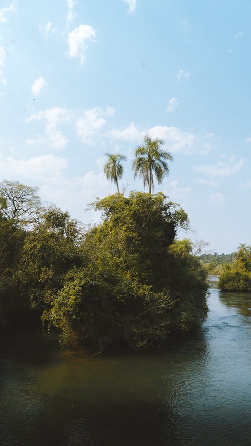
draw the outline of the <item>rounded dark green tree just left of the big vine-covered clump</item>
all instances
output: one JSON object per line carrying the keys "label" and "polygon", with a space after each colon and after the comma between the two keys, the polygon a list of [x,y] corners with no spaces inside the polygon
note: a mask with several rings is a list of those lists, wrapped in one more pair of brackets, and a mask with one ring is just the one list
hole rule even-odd
{"label": "rounded dark green tree just left of the big vine-covered clump", "polygon": [[61,288],[64,275],[82,264],[81,228],[68,212],[53,209],[29,231],[20,261],[20,292],[32,308],[46,308]]}

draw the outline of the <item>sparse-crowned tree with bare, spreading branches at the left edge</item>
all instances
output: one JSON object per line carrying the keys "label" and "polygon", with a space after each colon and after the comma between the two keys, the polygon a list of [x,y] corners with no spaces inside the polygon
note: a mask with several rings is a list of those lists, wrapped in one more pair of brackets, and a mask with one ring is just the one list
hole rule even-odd
{"label": "sparse-crowned tree with bare, spreading branches at the left edge", "polygon": [[45,210],[38,188],[18,181],[4,180],[0,184],[0,211],[7,220],[21,226],[37,222]]}

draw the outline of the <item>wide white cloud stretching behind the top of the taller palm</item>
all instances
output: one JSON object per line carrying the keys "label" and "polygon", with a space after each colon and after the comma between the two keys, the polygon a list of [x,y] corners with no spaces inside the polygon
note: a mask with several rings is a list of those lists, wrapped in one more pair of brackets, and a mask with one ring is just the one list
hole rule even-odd
{"label": "wide white cloud stretching behind the top of the taller palm", "polygon": [[193,150],[196,137],[192,133],[183,132],[177,127],[156,125],[145,130],[139,130],[134,122],[123,130],[110,130],[107,136],[112,139],[129,140],[141,143],[144,136],[164,139],[165,144],[172,152],[189,153]]}

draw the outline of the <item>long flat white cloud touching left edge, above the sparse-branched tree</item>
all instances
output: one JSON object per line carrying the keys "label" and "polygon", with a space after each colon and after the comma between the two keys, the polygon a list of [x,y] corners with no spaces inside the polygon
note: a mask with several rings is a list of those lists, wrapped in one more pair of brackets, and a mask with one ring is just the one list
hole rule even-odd
{"label": "long flat white cloud touching left edge, above the sparse-branched tree", "polygon": [[50,155],[40,155],[28,160],[18,160],[0,154],[0,176],[2,178],[28,177],[32,179],[45,179],[57,177],[67,167],[65,158]]}

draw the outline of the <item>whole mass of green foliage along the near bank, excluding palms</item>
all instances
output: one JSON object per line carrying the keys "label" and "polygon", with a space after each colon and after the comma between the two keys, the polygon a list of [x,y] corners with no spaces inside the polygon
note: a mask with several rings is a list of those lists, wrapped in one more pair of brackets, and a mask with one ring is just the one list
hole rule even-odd
{"label": "whole mass of green foliage along the near bank, excluding palms", "polygon": [[206,316],[205,269],[175,238],[187,214],[162,193],[98,200],[102,222],[85,231],[35,200],[39,218],[0,216],[0,325],[39,314],[61,345],[138,350]]}

